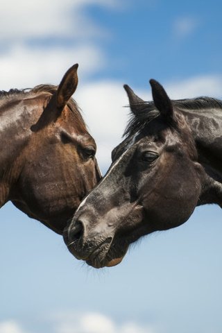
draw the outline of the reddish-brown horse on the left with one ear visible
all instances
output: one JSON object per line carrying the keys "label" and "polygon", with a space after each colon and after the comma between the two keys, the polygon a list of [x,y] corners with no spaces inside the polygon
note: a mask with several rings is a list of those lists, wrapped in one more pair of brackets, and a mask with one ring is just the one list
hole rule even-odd
{"label": "reddish-brown horse on the left with one ear visible", "polygon": [[96,143],[71,98],[77,69],[58,86],[0,92],[0,207],[10,200],[58,234],[101,178]]}

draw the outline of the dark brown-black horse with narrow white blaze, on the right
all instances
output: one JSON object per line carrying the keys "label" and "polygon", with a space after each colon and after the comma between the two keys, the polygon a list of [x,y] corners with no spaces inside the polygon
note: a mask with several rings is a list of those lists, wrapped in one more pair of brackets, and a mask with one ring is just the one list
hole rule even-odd
{"label": "dark brown-black horse with narrow white blaze, on the right", "polygon": [[124,86],[131,117],[123,142],[65,228],[69,251],[95,268],[119,264],[130,244],[185,223],[197,205],[222,206],[222,101],[171,101],[150,83],[151,102]]}

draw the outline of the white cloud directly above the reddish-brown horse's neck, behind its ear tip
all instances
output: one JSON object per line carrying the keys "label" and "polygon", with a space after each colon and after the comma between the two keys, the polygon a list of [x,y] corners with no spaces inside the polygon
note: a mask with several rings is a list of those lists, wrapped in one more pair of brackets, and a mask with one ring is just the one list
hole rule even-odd
{"label": "white cloud directly above the reddish-brown horse's neck, behind its ear tip", "polygon": [[105,58],[93,44],[44,50],[16,44],[7,53],[0,53],[0,89],[58,84],[65,71],[76,62],[79,63],[80,78],[83,78],[103,68]]}

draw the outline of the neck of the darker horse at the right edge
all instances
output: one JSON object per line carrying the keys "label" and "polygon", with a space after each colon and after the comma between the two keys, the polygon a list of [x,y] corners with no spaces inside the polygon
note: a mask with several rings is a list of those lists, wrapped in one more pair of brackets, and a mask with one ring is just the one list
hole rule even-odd
{"label": "neck of the darker horse at the right edge", "polygon": [[182,110],[182,113],[205,172],[199,205],[217,203],[222,207],[222,108]]}

